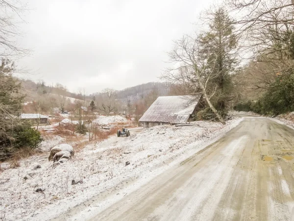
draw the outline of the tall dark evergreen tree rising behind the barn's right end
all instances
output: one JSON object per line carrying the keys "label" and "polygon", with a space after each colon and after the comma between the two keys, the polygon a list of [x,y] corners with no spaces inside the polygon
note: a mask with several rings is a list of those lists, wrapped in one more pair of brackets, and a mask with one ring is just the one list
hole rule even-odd
{"label": "tall dark evergreen tree rising behind the barn's right end", "polygon": [[207,72],[212,73],[211,88],[216,88],[217,109],[224,109],[230,99],[232,89],[231,75],[238,65],[238,38],[234,34],[233,20],[228,13],[219,8],[213,16],[209,30],[200,36],[202,53],[208,59]]}

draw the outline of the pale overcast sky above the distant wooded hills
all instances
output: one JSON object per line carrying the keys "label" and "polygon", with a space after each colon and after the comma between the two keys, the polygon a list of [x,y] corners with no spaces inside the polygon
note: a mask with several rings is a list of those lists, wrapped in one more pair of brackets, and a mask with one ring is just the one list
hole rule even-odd
{"label": "pale overcast sky above the distant wooded hills", "polygon": [[28,0],[19,61],[28,77],[87,93],[158,81],[172,40],[212,0]]}

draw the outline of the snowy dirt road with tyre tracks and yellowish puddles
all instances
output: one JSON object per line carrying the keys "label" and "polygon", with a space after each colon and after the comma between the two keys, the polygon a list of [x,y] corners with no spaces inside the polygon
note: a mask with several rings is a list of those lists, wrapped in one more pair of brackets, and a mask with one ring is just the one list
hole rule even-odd
{"label": "snowy dirt road with tyre tracks and yellowish puddles", "polygon": [[245,118],[92,220],[290,220],[293,143],[289,127],[268,118]]}

